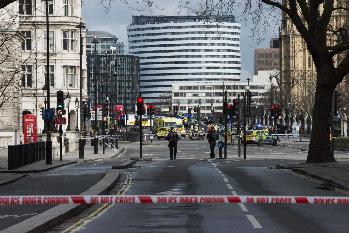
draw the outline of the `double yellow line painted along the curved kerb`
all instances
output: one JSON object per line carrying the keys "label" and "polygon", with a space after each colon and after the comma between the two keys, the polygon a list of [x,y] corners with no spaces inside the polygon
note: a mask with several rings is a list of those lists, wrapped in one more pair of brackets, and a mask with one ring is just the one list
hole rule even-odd
{"label": "double yellow line painted along the curved kerb", "polygon": [[[132,175],[130,173],[128,173],[128,172],[125,172],[125,174],[126,174],[126,180],[124,182],[124,186],[122,186],[122,188],[118,191],[118,193],[116,195],[124,195],[127,192],[127,190],[129,189],[129,187],[131,186]],[[70,226],[66,230],[62,231],[61,233],[66,233],[66,232],[69,232],[69,231],[80,230],[83,226],[88,224],[90,221],[92,221],[92,220],[98,218],[99,216],[103,215],[103,213],[105,213],[107,210],[109,210],[114,204],[115,203],[113,203],[113,204],[107,203],[107,204],[102,205],[100,208],[98,208],[98,210],[96,210],[95,212],[91,213],[89,216],[80,219],[79,221],[77,221],[72,226]],[[73,229],[73,228],[75,228],[75,229]]]}

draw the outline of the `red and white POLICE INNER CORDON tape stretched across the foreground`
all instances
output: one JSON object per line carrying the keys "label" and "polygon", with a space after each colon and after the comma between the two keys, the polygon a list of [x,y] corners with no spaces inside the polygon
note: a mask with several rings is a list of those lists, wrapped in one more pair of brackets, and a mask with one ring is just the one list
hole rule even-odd
{"label": "red and white POLICE INNER CORDON tape stretched across the foreground", "polygon": [[46,204],[349,204],[349,197],[339,196],[223,196],[223,195],[43,195],[0,196],[0,205]]}

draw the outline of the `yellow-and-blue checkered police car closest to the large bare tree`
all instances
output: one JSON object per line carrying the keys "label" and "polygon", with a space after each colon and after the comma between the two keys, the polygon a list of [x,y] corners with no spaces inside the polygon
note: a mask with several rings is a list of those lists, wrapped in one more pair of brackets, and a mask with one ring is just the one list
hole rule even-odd
{"label": "yellow-and-blue checkered police car closest to the large bare tree", "polygon": [[243,139],[242,143],[246,143],[246,145],[252,143],[257,144],[258,146],[262,144],[272,144],[273,146],[276,146],[277,138],[265,130],[246,130],[246,142]]}

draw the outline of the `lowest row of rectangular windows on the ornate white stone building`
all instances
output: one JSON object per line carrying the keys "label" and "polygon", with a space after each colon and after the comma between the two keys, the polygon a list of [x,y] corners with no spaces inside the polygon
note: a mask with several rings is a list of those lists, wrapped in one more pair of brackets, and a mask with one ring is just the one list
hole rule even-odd
{"label": "lowest row of rectangular windows on the ornate white stone building", "polygon": [[[50,66],[50,87],[54,87],[54,66]],[[76,76],[75,66],[62,67],[62,87],[74,87]],[[47,66],[45,66],[45,80],[47,78]],[[67,85],[68,84],[68,85]],[[22,66],[22,86],[33,87],[32,66]]]}

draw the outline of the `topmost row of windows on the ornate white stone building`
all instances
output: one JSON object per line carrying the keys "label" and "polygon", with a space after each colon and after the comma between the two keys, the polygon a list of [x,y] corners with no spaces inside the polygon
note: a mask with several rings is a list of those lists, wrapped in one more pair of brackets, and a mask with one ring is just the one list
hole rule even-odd
{"label": "topmost row of windows on the ornate white stone building", "polygon": [[[45,1],[43,1],[45,4]],[[63,0],[63,15],[72,16],[74,15],[74,10],[76,9],[77,1],[76,0]],[[53,0],[48,1],[49,14],[53,15],[54,5]],[[18,0],[18,14],[19,15],[31,15],[33,8],[32,0]],[[43,7],[44,13],[46,13],[46,6]]]}

